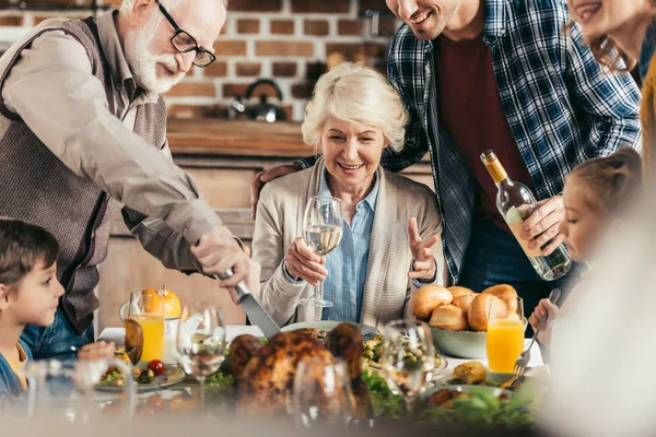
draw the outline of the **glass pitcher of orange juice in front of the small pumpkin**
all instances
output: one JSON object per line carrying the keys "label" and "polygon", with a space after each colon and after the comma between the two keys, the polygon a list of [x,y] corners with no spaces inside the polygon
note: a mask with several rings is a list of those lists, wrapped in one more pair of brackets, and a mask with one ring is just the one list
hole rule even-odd
{"label": "glass pitcher of orange juice in front of the small pumpkin", "polygon": [[[156,294],[148,290],[130,293],[127,308],[126,352],[137,350],[137,361],[162,359],[164,355],[164,306]],[[140,344],[141,343],[141,344]],[[140,349],[140,354],[138,350]],[[132,356],[130,356],[132,357]],[[134,361],[134,359],[133,359]]]}

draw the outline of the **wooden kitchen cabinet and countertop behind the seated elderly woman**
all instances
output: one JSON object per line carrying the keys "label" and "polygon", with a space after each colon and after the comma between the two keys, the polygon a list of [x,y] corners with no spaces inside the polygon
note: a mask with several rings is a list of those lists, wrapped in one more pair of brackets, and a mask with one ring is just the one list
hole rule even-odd
{"label": "wooden kitchen cabinet and countertop behind the seated elderly woman", "polygon": [[[172,119],[168,143],[174,161],[195,177],[202,194],[247,247],[254,229],[249,187],[255,175],[313,154],[312,147],[303,143],[301,125],[293,122]],[[427,156],[403,174],[433,186]],[[101,265],[97,332],[120,326],[118,307],[127,300],[130,290],[162,284],[183,302],[215,303],[227,323],[244,322],[242,310],[214,281],[165,269],[142,250],[119,220],[113,223],[108,256]]]}

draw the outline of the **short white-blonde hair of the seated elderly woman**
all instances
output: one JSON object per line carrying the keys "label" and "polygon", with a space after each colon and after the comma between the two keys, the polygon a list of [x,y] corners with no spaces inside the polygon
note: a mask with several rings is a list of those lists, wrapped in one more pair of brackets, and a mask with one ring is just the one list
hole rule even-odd
{"label": "short white-blonde hair of the seated elderly woman", "polygon": [[305,106],[303,141],[318,147],[328,117],[383,130],[395,151],[403,149],[408,111],[383,74],[362,63],[344,62],[323,74]]}

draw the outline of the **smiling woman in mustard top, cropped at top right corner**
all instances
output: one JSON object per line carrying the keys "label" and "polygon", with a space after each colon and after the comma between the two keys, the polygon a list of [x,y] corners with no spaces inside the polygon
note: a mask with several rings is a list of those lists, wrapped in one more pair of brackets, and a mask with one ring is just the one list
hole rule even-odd
{"label": "smiling woman in mustard top, cropped at top right corner", "polygon": [[[583,37],[597,61],[612,72],[628,72],[641,56],[656,20],[656,0],[567,0]],[[656,146],[656,62],[652,59],[642,88],[643,163],[654,167]]]}

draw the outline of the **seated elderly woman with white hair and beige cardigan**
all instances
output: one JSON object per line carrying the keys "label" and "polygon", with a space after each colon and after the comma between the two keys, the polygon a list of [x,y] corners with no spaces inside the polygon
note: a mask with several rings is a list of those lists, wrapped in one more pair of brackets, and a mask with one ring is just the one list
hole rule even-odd
{"label": "seated elderly woman with white hair and beige cardigan", "polygon": [[[305,113],[304,141],[323,157],[261,191],[253,240],[261,264],[257,297],[280,324],[375,327],[411,316],[413,291],[443,284],[446,269],[435,194],[380,167],[386,147],[403,146],[408,114],[398,94],[376,71],[343,63],[319,79]],[[340,199],[343,211],[341,241],[325,257],[301,237],[315,196]],[[300,305],[319,282],[318,297],[333,306]]]}

